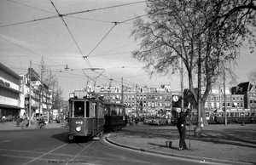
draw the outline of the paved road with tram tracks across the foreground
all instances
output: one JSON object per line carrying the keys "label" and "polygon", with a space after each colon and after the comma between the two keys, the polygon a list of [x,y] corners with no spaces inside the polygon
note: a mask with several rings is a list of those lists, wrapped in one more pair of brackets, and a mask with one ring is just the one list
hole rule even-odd
{"label": "paved road with tram tracks across the foreground", "polygon": [[67,141],[68,128],[1,131],[0,164],[198,164],[110,145],[104,138]]}

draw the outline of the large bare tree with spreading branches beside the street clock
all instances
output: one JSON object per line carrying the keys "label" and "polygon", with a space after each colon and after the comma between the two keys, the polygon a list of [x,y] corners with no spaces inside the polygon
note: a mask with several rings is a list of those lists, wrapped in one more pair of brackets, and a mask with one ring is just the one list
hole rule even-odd
{"label": "large bare tree with spreading branches beside the street clock", "polygon": [[[233,74],[229,64],[236,62],[242,42],[253,36],[247,27],[251,11],[232,15],[224,21],[224,26],[223,21],[216,19],[214,15],[225,10],[222,7],[224,3],[225,1],[212,0],[149,0],[146,8],[148,18],[135,20],[131,31],[131,35],[141,42],[140,48],[132,56],[145,63],[144,69],[150,76],[153,73],[163,76],[176,73],[179,70],[178,59],[182,59],[195,105],[198,100],[194,85],[198,79],[195,76],[199,72],[198,65],[201,64],[200,83],[206,86],[201,101],[202,108],[212,84],[219,76],[223,76],[224,70]],[[225,3],[224,6],[232,9],[234,5]],[[204,109],[201,116],[207,124]]]}

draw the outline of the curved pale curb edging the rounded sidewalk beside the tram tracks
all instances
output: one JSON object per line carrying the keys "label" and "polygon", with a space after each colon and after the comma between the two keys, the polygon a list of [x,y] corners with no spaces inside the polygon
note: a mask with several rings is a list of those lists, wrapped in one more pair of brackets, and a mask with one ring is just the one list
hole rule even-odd
{"label": "curved pale curb edging the rounded sidewalk beside the tram tracks", "polygon": [[178,154],[166,153],[166,152],[162,152],[162,151],[153,151],[153,150],[148,150],[148,149],[143,149],[143,148],[137,148],[137,147],[130,146],[130,145],[122,145],[122,144],[119,144],[119,143],[109,139],[108,138],[109,135],[111,135],[111,134],[107,134],[107,136],[105,137],[105,139],[109,143],[111,143],[113,145],[118,145],[120,147],[128,148],[128,149],[131,149],[131,150],[135,150],[135,151],[148,152],[148,153],[153,153],[153,154],[157,154],[157,155],[160,155],[160,156],[173,156],[173,157],[191,159],[191,160],[201,161],[201,162],[215,162],[215,163],[223,163],[223,164],[230,164],[230,165],[232,165],[232,164],[253,165],[253,163],[249,163],[249,162],[232,162],[232,161],[218,160],[218,159],[212,159],[212,158],[207,158],[207,157],[183,156],[183,155],[178,155]]}

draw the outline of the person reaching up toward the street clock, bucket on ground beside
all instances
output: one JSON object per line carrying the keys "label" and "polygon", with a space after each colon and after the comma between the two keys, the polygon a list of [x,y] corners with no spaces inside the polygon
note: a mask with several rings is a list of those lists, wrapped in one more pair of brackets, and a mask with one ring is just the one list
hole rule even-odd
{"label": "person reaching up toward the street clock, bucket on ground beside", "polygon": [[178,147],[179,151],[188,149],[185,142],[185,137],[186,137],[186,118],[189,115],[189,113],[190,113],[190,110],[188,108],[185,113],[181,111],[180,117],[177,118],[177,130],[179,133],[179,147]]}

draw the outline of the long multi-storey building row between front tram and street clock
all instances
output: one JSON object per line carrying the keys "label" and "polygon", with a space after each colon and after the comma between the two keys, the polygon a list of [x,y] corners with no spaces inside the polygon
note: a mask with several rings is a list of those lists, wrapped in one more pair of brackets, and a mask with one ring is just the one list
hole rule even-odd
{"label": "long multi-storey building row between front tram and street clock", "polygon": [[127,106],[129,116],[163,116],[169,115],[172,110],[172,93],[170,86],[162,85],[160,88],[134,87],[96,87],[95,93],[104,100],[123,103]]}

